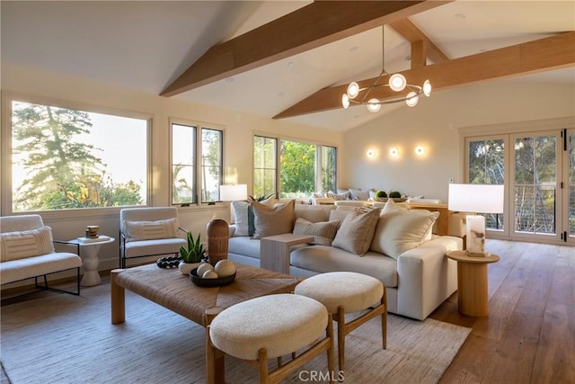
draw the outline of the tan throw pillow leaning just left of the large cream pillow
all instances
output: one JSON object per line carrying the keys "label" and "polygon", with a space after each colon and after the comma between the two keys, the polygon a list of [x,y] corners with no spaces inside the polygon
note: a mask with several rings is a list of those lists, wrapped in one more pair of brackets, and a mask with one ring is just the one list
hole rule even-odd
{"label": "tan throw pillow leaning just left of the large cream pillow", "polygon": [[333,238],[332,246],[355,255],[365,255],[374,237],[380,211],[379,208],[356,208],[349,211]]}

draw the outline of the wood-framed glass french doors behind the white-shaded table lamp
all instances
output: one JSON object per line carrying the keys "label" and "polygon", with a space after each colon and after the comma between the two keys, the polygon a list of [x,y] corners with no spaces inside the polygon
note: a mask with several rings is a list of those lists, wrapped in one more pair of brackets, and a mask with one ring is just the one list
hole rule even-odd
{"label": "wood-framed glass french doors behind the white-shaded table lamp", "polygon": [[575,129],[466,138],[467,183],[503,183],[491,237],[575,245]]}

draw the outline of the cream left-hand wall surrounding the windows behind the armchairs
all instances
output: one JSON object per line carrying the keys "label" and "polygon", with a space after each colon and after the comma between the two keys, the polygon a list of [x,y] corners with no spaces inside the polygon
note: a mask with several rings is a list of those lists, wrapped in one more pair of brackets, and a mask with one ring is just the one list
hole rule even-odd
{"label": "cream left-hand wall surrounding the windows behind the armchairs", "polygon": [[[341,146],[342,134],[324,129],[310,129],[288,121],[274,121],[249,114],[239,114],[211,106],[199,105],[164,98],[155,94],[144,94],[114,85],[94,83],[81,78],[58,76],[42,73],[32,68],[2,65],[2,92],[30,94],[77,103],[78,108],[102,107],[119,111],[141,112],[153,116],[152,129],[152,205],[167,206],[170,204],[170,157],[169,157],[169,118],[175,117],[192,121],[203,121],[226,127],[224,165],[226,183],[247,183],[248,191],[252,185],[252,134],[269,132],[289,138],[303,138],[311,141]],[[9,129],[9,117],[5,115],[3,129]],[[5,136],[4,136],[5,137]],[[326,140],[326,138],[328,138]],[[113,138],[112,138],[113,139]],[[3,163],[9,157],[2,154]],[[6,185],[5,172],[2,173],[3,188]],[[2,215],[8,214],[3,205]],[[89,212],[78,214],[42,213],[47,225],[53,227],[54,236],[58,239],[71,239],[84,236],[85,226],[100,225],[101,233],[118,237],[119,213],[109,214]],[[229,219],[229,207],[224,204],[191,207],[180,209],[181,227],[194,233],[201,232],[205,237],[206,224],[209,219]],[[118,266],[118,239],[115,243],[102,246],[99,257],[101,270]]]}

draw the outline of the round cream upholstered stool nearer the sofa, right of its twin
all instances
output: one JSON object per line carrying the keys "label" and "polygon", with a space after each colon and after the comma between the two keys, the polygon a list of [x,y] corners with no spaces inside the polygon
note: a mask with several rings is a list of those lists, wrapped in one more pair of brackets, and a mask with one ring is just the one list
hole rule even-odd
{"label": "round cream upholstered stool nearer the sofa, right of its twin", "polygon": [[[345,368],[345,336],[378,315],[383,347],[387,348],[387,295],[381,281],[356,272],[321,273],[297,284],[295,292],[321,302],[338,322],[340,372]],[[346,324],[346,313],[360,311],[365,313]]]}

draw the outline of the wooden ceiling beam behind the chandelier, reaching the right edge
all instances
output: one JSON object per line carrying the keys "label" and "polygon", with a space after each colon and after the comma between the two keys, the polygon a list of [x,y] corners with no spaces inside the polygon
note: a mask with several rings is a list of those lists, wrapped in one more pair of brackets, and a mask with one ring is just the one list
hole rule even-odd
{"label": "wooden ceiling beam behind the chandelier, reaching the right edge", "polygon": [[[427,67],[417,67],[401,73],[411,84],[422,85],[426,79],[429,79],[433,86],[432,92],[435,92],[457,85],[574,66],[575,31],[570,31]],[[381,83],[387,82],[387,79],[388,76],[382,77]],[[375,82],[376,77],[359,81],[358,84],[364,87],[373,85]],[[346,88],[347,85],[323,88],[305,100],[292,105],[286,111],[280,112],[273,119],[342,108],[341,95],[346,92]],[[385,99],[394,95],[397,94],[390,91],[388,87],[379,87],[372,91],[370,97]]]}

